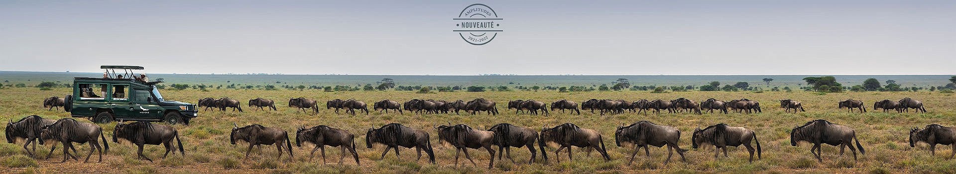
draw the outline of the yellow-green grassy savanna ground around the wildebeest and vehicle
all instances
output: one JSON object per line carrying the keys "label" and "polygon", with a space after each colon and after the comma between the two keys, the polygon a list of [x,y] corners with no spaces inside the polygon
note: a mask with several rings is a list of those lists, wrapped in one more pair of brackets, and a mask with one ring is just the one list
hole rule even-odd
{"label": "yellow-green grassy savanna ground around the wildebeest and vehicle", "polygon": [[[186,89],[182,91],[162,90],[163,97],[171,100],[180,100],[194,102],[201,98],[235,98],[242,102],[247,102],[251,98],[272,98],[278,111],[252,111],[246,109],[246,112],[222,111],[200,111],[200,117],[192,120],[189,125],[171,125],[179,130],[183,144],[185,145],[185,157],[181,155],[169,155],[166,159],[159,160],[164,152],[162,145],[147,145],[144,154],[153,158],[154,163],[142,160],[137,157],[136,146],[131,144],[117,144],[112,141],[111,149],[103,157],[102,163],[77,163],[68,161],[67,163],[58,163],[61,159],[51,158],[44,160],[49,153],[49,147],[38,147],[37,158],[31,159],[27,152],[23,150],[22,143],[0,143],[0,170],[6,172],[308,172],[308,173],[395,173],[395,172],[422,172],[422,173],[490,173],[490,172],[685,172],[685,171],[703,171],[703,172],[792,172],[792,171],[823,171],[823,172],[952,172],[956,171],[956,161],[945,160],[945,155],[950,153],[950,147],[939,145],[937,155],[931,156],[925,147],[917,146],[912,148],[907,142],[909,130],[914,127],[920,127],[927,124],[938,123],[945,126],[956,125],[956,97],[952,94],[941,94],[939,92],[844,92],[844,93],[812,93],[812,92],[669,92],[669,93],[651,93],[650,91],[611,91],[611,92],[571,92],[558,93],[555,91],[539,92],[434,92],[428,94],[419,94],[413,91],[355,91],[355,92],[323,92],[322,90],[245,90],[228,89],[215,90],[208,89],[207,92],[201,90]],[[64,96],[70,93],[67,88],[54,88],[49,91],[41,91],[38,88],[5,88],[0,89],[0,113],[3,113],[2,119],[19,120],[20,118],[39,115],[49,119],[68,118],[68,113],[62,110],[47,111],[43,108],[41,101],[43,98],[53,96]],[[313,98],[318,100],[320,109],[318,113],[303,114],[296,113],[294,108],[286,107],[289,98]],[[324,101],[333,98],[356,98],[366,103],[374,103],[380,99],[391,99],[404,102],[412,98],[432,98],[445,100],[469,100],[472,98],[487,98],[497,102],[497,107],[501,115],[489,116],[484,113],[480,115],[454,115],[454,114],[428,114],[419,115],[405,112],[399,113],[380,113],[373,111],[369,115],[359,113],[357,116],[336,114],[334,110],[325,109]],[[614,98],[634,101],[641,98],[647,99],[674,99],[690,98],[697,102],[706,98],[718,98],[722,100],[750,98],[761,102],[763,113],[753,114],[711,114],[703,115],[677,113],[677,114],[634,114],[624,113],[617,115],[598,116],[588,111],[582,111],[581,115],[572,115],[560,111],[551,111],[548,116],[527,114],[515,115],[513,111],[507,110],[507,103],[513,99],[535,99],[551,103],[554,100],[566,98],[580,103],[590,98]],[[846,110],[837,109],[837,102],[854,98],[864,101],[869,112],[849,113]],[[896,112],[883,113],[869,109],[873,102],[882,99],[898,100],[900,98],[914,98],[923,101],[926,113],[902,113]],[[785,113],[783,108],[779,108],[780,99],[794,99],[802,103],[807,112]],[[242,103],[246,107],[246,103]],[[371,106],[369,106],[371,107]],[[549,106],[550,107],[550,106]],[[800,146],[791,146],[790,131],[794,126],[803,125],[810,120],[829,120],[834,123],[847,125],[856,130],[858,140],[866,149],[866,155],[858,156],[858,161],[854,161],[852,155],[848,153],[842,157],[838,156],[837,146],[822,146],[822,163],[815,162],[814,156],[810,153],[810,146],[801,144]],[[615,128],[623,124],[631,124],[640,120],[649,120],[660,125],[674,126],[682,131],[680,147],[690,149],[684,155],[688,163],[680,162],[678,159],[672,159],[670,163],[663,164],[666,157],[665,148],[651,147],[651,157],[643,157],[641,152],[634,163],[626,164],[629,160],[633,148],[618,147],[615,145]],[[80,120],[88,121],[88,120]],[[390,152],[380,159],[384,147],[376,146],[369,149],[364,147],[365,130],[375,126],[378,128],[387,123],[402,123],[405,126],[422,129],[431,133],[430,141],[435,147],[437,164],[428,163],[426,159],[415,162],[416,157],[414,149],[401,148],[402,155],[395,157],[394,152]],[[610,162],[604,162],[599,154],[592,153],[590,157],[580,148],[572,148],[574,160],[568,161],[566,151],[560,153],[563,158],[561,163],[555,163],[554,149],[548,148],[551,163],[540,163],[540,153],[538,163],[528,163],[531,153],[523,148],[511,148],[511,156],[517,163],[511,163],[510,160],[503,159],[495,161],[491,169],[487,169],[489,157],[484,149],[471,149],[472,159],[479,163],[478,166],[467,163],[465,165],[452,166],[455,150],[453,147],[441,145],[438,141],[435,124],[467,124],[473,128],[488,129],[491,126],[507,122],[516,126],[529,127],[535,131],[540,131],[542,125],[559,125],[565,122],[575,123],[577,126],[587,129],[594,129],[603,137],[603,142],[608,149]],[[329,157],[328,163],[321,163],[319,159],[308,160],[308,153],[313,149],[310,146],[295,147],[293,143],[294,158],[290,160],[285,156],[276,160],[275,147],[273,145],[264,146],[261,151],[253,148],[250,158],[243,160],[246,146],[229,144],[229,131],[233,123],[240,126],[249,124],[262,124],[267,127],[281,128],[294,135],[296,128],[315,125],[328,125],[334,128],[344,129],[356,135],[356,144],[358,144],[358,153],[360,164],[351,162],[351,157],[345,158],[345,163],[337,164],[337,157],[341,155],[337,148],[328,148],[326,156]],[[691,133],[694,129],[700,127],[727,123],[731,126],[743,126],[752,129],[757,139],[760,141],[763,158],[748,162],[749,154],[745,147],[728,147],[729,158],[713,159],[712,149],[692,149]],[[107,139],[112,136],[115,122],[100,124],[103,133]],[[293,136],[291,135],[291,136]],[[294,137],[291,137],[293,139]],[[76,145],[76,151],[79,155],[86,155],[89,152],[90,145]],[[494,148],[497,149],[497,148]],[[57,150],[54,157],[62,157],[61,151]],[[348,152],[347,152],[348,153]],[[351,156],[351,155],[349,155]],[[675,154],[676,156],[676,154]]]}

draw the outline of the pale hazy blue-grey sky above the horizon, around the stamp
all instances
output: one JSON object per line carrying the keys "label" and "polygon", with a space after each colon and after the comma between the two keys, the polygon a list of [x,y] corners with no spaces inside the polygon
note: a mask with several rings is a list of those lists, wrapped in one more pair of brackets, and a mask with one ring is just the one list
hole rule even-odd
{"label": "pale hazy blue-grey sky above the horizon, around the stamp", "polygon": [[[503,33],[451,32],[483,3]],[[0,1],[0,71],[952,75],[956,1]]]}

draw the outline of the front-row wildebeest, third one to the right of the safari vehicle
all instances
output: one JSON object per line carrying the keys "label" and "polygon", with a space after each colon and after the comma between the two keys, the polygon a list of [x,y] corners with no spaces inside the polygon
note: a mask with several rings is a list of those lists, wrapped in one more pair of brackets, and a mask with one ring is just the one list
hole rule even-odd
{"label": "front-row wildebeest, third one to the right of the safari vehicle", "polygon": [[399,146],[405,148],[415,147],[418,150],[418,162],[422,160],[422,150],[428,154],[428,161],[435,163],[435,154],[431,149],[431,141],[428,141],[428,132],[423,130],[405,127],[400,123],[390,123],[376,129],[369,127],[365,132],[365,147],[372,148],[373,143],[384,144],[385,152],[381,153],[381,158],[389,149],[395,148],[395,157],[399,157]]}

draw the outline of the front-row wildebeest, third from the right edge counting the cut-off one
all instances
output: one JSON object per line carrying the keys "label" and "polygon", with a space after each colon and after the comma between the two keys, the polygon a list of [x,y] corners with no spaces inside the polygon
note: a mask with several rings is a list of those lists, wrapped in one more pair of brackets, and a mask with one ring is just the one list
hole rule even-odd
{"label": "front-row wildebeest, third from the right edge counting the cut-off one", "polygon": [[747,147],[747,151],[750,152],[750,163],[753,163],[753,147],[750,146],[750,140],[753,140],[757,144],[757,159],[763,159],[760,155],[760,141],[757,141],[757,134],[753,133],[753,130],[750,130],[747,127],[736,127],[729,126],[725,123],[719,123],[716,125],[707,126],[707,128],[694,129],[694,134],[691,136],[691,142],[694,148],[697,148],[701,145],[713,145],[714,148],[714,159],[717,159],[717,154],[719,154],[720,149],[724,149],[724,157],[727,157],[727,146],[740,146],[744,145]]}

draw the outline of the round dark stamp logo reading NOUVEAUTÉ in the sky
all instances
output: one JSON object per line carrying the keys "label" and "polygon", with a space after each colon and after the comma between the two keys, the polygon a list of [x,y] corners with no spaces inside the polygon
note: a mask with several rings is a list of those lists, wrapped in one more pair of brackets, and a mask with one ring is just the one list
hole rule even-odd
{"label": "round dark stamp logo reading NOUVEAUT\u00c9 in the sky", "polygon": [[501,17],[484,4],[472,4],[458,13],[455,21],[455,30],[465,42],[471,45],[485,45],[491,42],[498,33],[504,32],[501,28]]}

